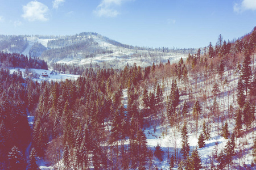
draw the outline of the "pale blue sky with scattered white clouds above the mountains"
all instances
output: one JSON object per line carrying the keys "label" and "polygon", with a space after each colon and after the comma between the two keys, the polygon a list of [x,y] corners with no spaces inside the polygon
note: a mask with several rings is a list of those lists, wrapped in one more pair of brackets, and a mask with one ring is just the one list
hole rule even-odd
{"label": "pale blue sky with scattered white clouds above the mountains", "polygon": [[200,48],[256,26],[256,0],[0,0],[0,35],[97,32],[123,44]]}

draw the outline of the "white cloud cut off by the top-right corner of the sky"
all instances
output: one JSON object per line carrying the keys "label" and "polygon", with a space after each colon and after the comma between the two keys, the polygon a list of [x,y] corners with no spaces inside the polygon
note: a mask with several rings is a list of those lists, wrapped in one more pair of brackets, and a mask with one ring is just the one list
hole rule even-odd
{"label": "white cloud cut off by the top-right corner of the sky", "polygon": [[256,0],[242,0],[240,3],[234,3],[233,10],[237,13],[246,10],[256,10]]}

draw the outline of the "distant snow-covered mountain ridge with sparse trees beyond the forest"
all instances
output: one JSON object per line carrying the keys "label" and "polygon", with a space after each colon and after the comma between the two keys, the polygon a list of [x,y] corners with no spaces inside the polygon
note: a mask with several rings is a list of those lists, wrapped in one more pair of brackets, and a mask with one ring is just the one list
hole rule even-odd
{"label": "distant snow-covered mountain ridge with sparse trees beyond the forest", "polygon": [[94,32],[69,36],[2,36],[0,50],[39,57],[48,63],[115,68],[124,67],[127,63],[133,65],[134,62],[143,66],[152,65],[154,62],[167,62],[168,59],[174,62],[180,57],[187,57],[188,53],[196,52],[196,49],[192,48],[126,45]]}

